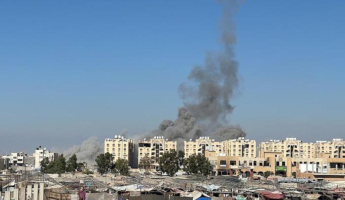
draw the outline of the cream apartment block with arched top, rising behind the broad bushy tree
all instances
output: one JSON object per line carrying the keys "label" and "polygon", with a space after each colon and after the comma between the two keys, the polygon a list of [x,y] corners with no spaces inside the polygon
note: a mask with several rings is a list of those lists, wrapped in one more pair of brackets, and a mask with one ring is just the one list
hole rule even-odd
{"label": "cream apartment block with arched top, rising behind the broad bushy tree", "polygon": [[202,154],[205,156],[206,150],[215,151],[217,154],[223,154],[224,144],[223,142],[217,142],[214,139],[210,139],[209,136],[201,136],[195,141],[192,141],[192,139],[184,141],[185,158],[188,158],[192,154]]}

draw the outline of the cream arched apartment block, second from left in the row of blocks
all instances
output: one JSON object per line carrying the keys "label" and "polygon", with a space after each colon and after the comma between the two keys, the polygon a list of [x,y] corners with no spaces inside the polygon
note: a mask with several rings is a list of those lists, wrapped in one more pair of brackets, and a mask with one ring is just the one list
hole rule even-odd
{"label": "cream arched apartment block, second from left in the row of blocks", "polygon": [[159,169],[159,158],[164,152],[177,149],[177,141],[164,139],[164,136],[154,136],[149,141],[147,139],[138,142],[138,161],[145,156],[151,157],[154,161],[152,167]]}

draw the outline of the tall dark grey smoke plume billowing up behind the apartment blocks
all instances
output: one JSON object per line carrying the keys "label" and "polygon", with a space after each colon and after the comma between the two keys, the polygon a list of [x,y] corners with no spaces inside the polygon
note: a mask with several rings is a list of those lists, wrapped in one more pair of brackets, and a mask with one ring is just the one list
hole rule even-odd
{"label": "tall dark grey smoke plume billowing up behind the apartment blocks", "polygon": [[237,89],[239,64],[235,60],[236,44],[233,13],[237,2],[220,1],[223,15],[219,28],[221,31],[222,50],[219,53],[207,53],[204,66],[194,67],[187,83],[178,87],[184,106],[178,109],[177,119],[164,120],[150,136],[162,135],[177,140],[181,149],[183,141],[209,135],[218,141],[245,136],[240,126],[230,126],[227,115],[234,106],[230,99]]}

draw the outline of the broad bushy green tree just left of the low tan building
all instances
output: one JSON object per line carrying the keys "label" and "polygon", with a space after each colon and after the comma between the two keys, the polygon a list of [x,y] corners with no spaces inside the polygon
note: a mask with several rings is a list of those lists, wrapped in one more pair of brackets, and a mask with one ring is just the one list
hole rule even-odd
{"label": "broad bushy green tree just left of the low tan building", "polygon": [[207,158],[201,154],[192,154],[184,160],[184,171],[188,174],[203,174],[209,176],[212,173],[213,166]]}

